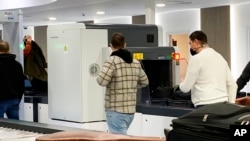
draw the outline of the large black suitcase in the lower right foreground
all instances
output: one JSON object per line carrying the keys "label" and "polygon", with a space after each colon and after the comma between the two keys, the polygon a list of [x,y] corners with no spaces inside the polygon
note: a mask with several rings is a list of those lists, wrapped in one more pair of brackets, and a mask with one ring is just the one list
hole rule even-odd
{"label": "large black suitcase in the lower right foreground", "polygon": [[228,102],[205,105],[172,120],[167,141],[229,141],[230,125],[246,125],[250,107]]}

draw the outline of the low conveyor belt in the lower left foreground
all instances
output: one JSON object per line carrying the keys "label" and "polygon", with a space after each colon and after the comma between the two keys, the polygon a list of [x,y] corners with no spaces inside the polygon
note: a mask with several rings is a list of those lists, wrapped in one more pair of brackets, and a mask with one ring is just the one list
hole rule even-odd
{"label": "low conveyor belt in the lower left foreground", "polygon": [[[50,125],[37,122],[28,122],[21,120],[0,119],[0,127],[12,128],[17,130],[24,130],[30,132],[37,132],[42,134],[51,134],[60,131],[84,131],[86,129],[65,127],[58,125]],[[88,130],[90,131],[90,130]]]}

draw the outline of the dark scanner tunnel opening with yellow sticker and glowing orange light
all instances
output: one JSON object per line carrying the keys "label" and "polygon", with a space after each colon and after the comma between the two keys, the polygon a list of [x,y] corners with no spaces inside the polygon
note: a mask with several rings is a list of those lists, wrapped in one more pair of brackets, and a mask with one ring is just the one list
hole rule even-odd
{"label": "dark scanner tunnel opening with yellow sticker and glowing orange light", "polygon": [[[190,100],[191,97],[188,97],[190,93],[183,93],[183,98],[179,98],[183,100],[183,105],[172,103],[173,100],[178,99],[177,96],[172,97],[173,87],[180,84],[181,59],[178,47],[133,47],[127,49],[132,53],[133,58],[140,60],[149,79],[149,86],[138,92],[138,104],[192,108],[192,105],[184,105],[185,100]],[[178,101],[178,103],[180,102]]]}

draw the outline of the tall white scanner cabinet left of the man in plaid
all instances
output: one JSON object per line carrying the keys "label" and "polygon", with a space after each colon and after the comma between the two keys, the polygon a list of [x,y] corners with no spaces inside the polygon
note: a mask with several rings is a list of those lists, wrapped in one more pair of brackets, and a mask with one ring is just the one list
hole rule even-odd
{"label": "tall white scanner cabinet left of the man in plaid", "polygon": [[49,117],[72,122],[104,120],[103,87],[96,82],[107,46],[106,29],[84,24],[48,26]]}

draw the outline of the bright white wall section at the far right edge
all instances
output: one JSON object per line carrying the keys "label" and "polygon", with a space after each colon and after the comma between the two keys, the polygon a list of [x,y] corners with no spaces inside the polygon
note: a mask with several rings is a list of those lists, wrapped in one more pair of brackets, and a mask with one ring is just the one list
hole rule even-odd
{"label": "bright white wall section at the far right edge", "polygon": [[[250,60],[250,3],[231,5],[231,70],[237,79]],[[250,92],[250,86],[243,89]]]}

